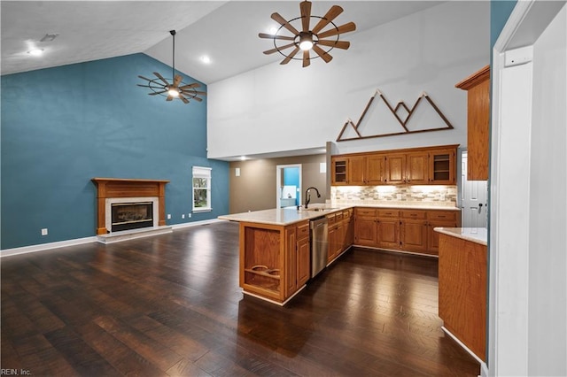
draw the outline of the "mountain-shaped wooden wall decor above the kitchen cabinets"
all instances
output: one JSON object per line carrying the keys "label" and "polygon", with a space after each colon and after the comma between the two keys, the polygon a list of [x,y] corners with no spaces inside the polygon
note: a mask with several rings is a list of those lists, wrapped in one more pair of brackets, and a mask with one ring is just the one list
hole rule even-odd
{"label": "mountain-shaped wooden wall decor above the kitchen cabinets", "polygon": [[[368,135],[368,136],[361,135],[358,127],[361,125],[362,119],[364,119],[364,116],[369,111],[370,105],[372,104],[372,102],[374,102],[374,98],[377,95],[380,96],[380,98],[382,98],[382,100],[384,101],[384,104],[386,104],[386,106],[388,107],[390,112],[392,112],[392,115],[394,116],[394,118],[398,120],[398,122],[400,123],[400,126],[403,128],[402,131],[393,132],[393,133],[389,133],[389,134],[381,134],[381,135]],[[418,130],[414,130],[414,131],[410,131],[408,129],[408,127],[407,127],[408,121],[409,121],[409,119],[411,119],[411,116],[414,113],[414,111],[416,110],[417,105],[421,103],[421,100],[423,98],[425,98],[427,100],[427,102],[429,102],[429,104],[431,104],[431,107],[433,108],[433,110],[435,110],[435,112],[437,112],[439,114],[439,117],[441,119],[443,119],[443,121],[445,122],[447,127],[418,129]],[[405,119],[402,119],[400,117],[400,115],[398,114],[400,107],[402,107],[403,109],[406,110],[406,112],[408,112],[408,116]],[[347,127],[352,127],[357,136],[356,137],[343,138],[343,135],[345,134]],[[374,95],[370,97],[368,104],[366,104],[366,107],[364,108],[364,111],[361,114],[361,118],[358,119],[358,122],[356,122],[356,124],[354,124],[352,119],[346,120],[345,125],[343,126],[343,128],[340,131],[340,134],[338,134],[337,142],[345,142],[347,140],[369,139],[369,138],[373,138],[373,137],[384,137],[384,136],[392,136],[392,135],[417,134],[417,133],[421,133],[421,132],[439,131],[439,130],[444,130],[444,129],[453,129],[453,125],[451,125],[449,120],[445,117],[445,115],[443,115],[443,113],[439,110],[439,107],[437,107],[437,105],[433,102],[433,100],[431,100],[430,96],[428,96],[427,93],[423,92],[421,96],[417,97],[416,103],[410,109],[410,108],[408,108],[408,105],[405,104],[403,101],[398,102],[398,104],[396,104],[395,107],[392,107],[392,104],[390,104],[388,102],[388,100],[386,99],[386,97],[382,94],[382,92],[377,89],[376,92],[374,93]]]}

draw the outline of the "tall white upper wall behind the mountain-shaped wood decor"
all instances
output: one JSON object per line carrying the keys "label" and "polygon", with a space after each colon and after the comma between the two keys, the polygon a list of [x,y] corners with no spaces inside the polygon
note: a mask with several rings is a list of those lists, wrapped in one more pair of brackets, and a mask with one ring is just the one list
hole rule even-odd
{"label": "tall white upper wall behind the mountain-shaped wood decor", "polygon": [[[343,35],[351,48],[331,51],[329,64],[275,63],[210,84],[208,157],[324,147],[346,119],[360,118],[377,88],[408,106],[427,92],[454,130],[338,142],[338,152],[466,145],[466,92],[454,84],[489,63],[489,6],[440,4]],[[344,14],[348,20],[348,9]]]}

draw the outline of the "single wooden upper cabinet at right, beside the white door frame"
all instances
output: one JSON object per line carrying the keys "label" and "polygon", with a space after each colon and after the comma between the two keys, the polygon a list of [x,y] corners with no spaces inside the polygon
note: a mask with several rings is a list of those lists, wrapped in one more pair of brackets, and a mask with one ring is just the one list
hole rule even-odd
{"label": "single wooden upper cabinet at right, beside the white door frame", "polygon": [[469,181],[488,180],[488,148],[490,119],[490,66],[486,65],[455,85],[467,90],[467,150]]}

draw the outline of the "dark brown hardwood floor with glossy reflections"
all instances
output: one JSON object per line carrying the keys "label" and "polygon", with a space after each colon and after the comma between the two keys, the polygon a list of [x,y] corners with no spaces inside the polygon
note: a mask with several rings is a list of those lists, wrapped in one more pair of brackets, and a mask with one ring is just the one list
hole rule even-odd
{"label": "dark brown hardwood floor with glossy reflections", "polygon": [[[3,258],[2,365],[34,376],[476,376],[437,260],[349,250],[284,307],[238,288],[238,226]],[[5,374],[5,373],[4,373]]]}

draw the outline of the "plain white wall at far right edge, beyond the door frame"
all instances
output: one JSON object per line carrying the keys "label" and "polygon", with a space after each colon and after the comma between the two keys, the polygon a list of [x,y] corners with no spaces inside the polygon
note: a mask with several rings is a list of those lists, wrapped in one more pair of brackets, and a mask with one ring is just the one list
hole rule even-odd
{"label": "plain white wall at far right edge, beyond the door frame", "polygon": [[533,44],[529,375],[567,375],[567,6]]}

